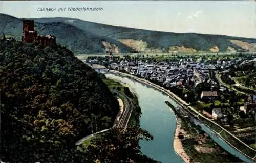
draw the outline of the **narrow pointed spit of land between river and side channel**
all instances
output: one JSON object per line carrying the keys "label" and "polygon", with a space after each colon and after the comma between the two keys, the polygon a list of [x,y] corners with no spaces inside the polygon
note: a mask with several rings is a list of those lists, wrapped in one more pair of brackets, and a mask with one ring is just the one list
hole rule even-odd
{"label": "narrow pointed spit of land between river and side channel", "polygon": [[[242,162],[209,139],[200,127],[181,117],[175,106],[168,101],[165,103],[177,116],[174,149],[184,162]],[[180,133],[183,138],[180,135],[179,139]]]}

